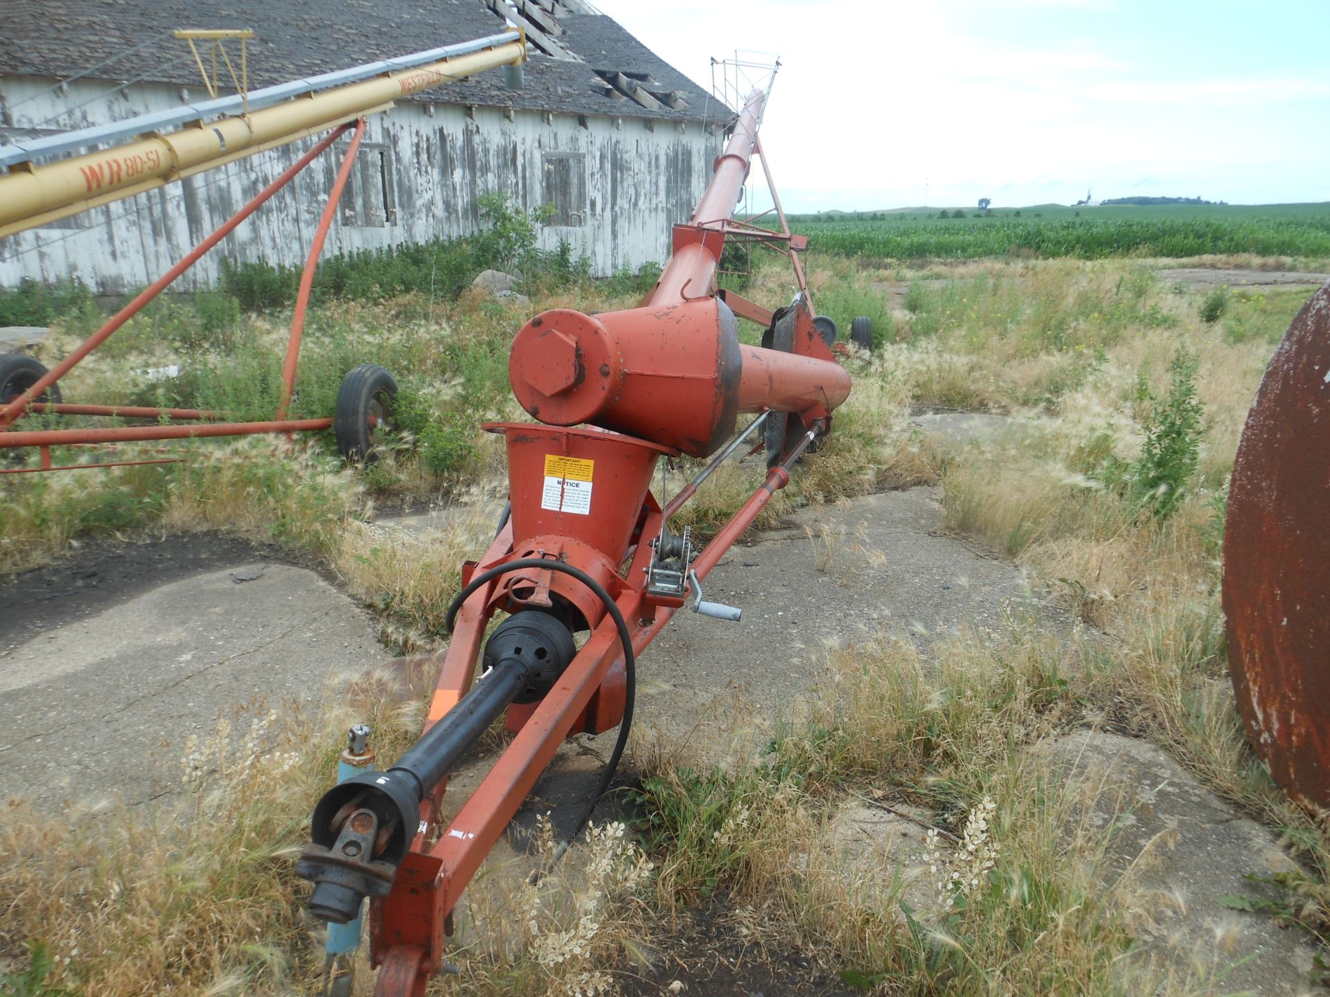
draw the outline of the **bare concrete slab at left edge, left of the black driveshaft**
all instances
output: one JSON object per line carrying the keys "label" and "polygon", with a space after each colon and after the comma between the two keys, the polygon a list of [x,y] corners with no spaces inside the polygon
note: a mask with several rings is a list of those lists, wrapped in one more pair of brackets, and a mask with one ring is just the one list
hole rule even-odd
{"label": "bare concrete slab at left edge, left of the black driveshaft", "polygon": [[[243,581],[241,581],[243,578]],[[370,617],[314,572],[255,560],[72,619],[0,654],[3,795],[44,811],[181,784],[185,740],[263,697],[317,702],[387,658]]]}

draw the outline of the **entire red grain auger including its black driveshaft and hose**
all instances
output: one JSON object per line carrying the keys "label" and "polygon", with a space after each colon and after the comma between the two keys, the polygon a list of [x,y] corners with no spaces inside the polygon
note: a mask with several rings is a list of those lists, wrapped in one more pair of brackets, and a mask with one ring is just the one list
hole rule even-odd
{"label": "entire red grain auger including its black driveshaft and hose", "polygon": [[[702,598],[702,582],[850,393],[835,327],[813,314],[798,258],[805,241],[790,234],[774,189],[778,231],[730,217],[761,154],[766,100],[762,90],[747,97],[693,218],[674,227],[660,282],[637,307],[555,308],[513,342],[512,389],[539,421],[485,425],[507,443],[511,516],[485,554],[463,566],[424,734],[386,771],[323,796],[299,863],[315,884],[310,908],[327,921],[354,919],[372,897],[379,994],[420,994],[443,968],[463,889],[560,742],[618,726],[600,792],[608,787],[632,722],[636,655],[685,606],[738,619],[738,609]],[[794,300],[769,311],[718,290],[728,239],[787,253]],[[762,347],[739,342],[739,318],[765,328]],[[755,419],[737,432],[742,413]],[[767,472],[743,506],[701,549],[688,530],[670,532],[670,517],[758,431]],[[681,453],[713,460],[666,501],[650,491],[653,471]],[[507,618],[481,655],[497,613]],[[589,631],[580,647],[579,631]],[[505,710],[512,742],[444,824],[450,771]]]}

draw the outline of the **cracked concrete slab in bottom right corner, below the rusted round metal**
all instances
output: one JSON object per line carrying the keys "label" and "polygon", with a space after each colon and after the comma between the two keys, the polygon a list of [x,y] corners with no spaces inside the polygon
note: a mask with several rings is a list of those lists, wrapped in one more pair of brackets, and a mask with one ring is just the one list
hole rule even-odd
{"label": "cracked concrete slab in bottom right corner, below the rusted round metal", "polygon": [[1274,891],[1244,875],[1297,872],[1273,832],[1148,742],[1077,731],[1037,751],[1089,787],[1101,824],[1119,823],[1109,865],[1115,879],[1136,865],[1128,892],[1140,895],[1132,913],[1144,919],[1137,942],[1146,956],[1222,993],[1313,993],[1317,945],[1307,932],[1220,904],[1229,895],[1274,899]]}

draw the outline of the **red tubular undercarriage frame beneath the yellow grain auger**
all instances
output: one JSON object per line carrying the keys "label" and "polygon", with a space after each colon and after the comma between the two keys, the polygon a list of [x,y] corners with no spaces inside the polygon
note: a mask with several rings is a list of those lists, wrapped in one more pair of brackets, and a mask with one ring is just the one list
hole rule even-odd
{"label": "red tubular undercarriage frame beneath the yellow grain auger", "polygon": [[[180,459],[158,459],[158,460],[112,460],[92,464],[66,464],[66,465],[52,465],[51,461],[51,448],[52,447],[86,447],[86,445],[102,445],[113,443],[129,443],[141,440],[182,440],[182,439],[197,439],[207,436],[249,436],[255,433],[286,433],[291,436],[297,432],[318,432],[321,429],[329,429],[332,425],[332,419],[287,419],[287,405],[291,400],[291,392],[295,387],[295,371],[299,360],[301,352],[301,335],[305,330],[305,314],[309,307],[310,291],[314,283],[314,269],[318,265],[318,258],[323,251],[323,245],[327,241],[329,227],[336,215],[336,205],[342,197],[342,190],[346,187],[347,178],[351,175],[351,166],[355,161],[356,150],[360,148],[360,140],[364,137],[366,122],[364,118],[358,120],[354,124],[354,132],[351,136],[351,142],[347,146],[344,156],[342,157],[342,165],[338,170],[336,179],[332,183],[332,189],[329,191],[327,203],[323,209],[323,217],[319,221],[319,226],[314,233],[314,239],[310,243],[310,253],[305,261],[305,270],[301,274],[301,287],[295,299],[295,312],[291,318],[291,335],[290,342],[286,347],[286,358],[282,364],[282,400],[278,404],[277,415],[270,421],[251,421],[251,423],[234,423],[226,421],[226,415],[222,412],[210,412],[193,408],[154,408],[149,405],[93,405],[93,404],[48,404],[36,401],[41,395],[61,378],[64,378],[69,371],[72,371],[80,362],[84,360],[93,350],[101,346],[106,339],[110,338],[116,330],[124,326],[130,318],[138,314],[145,304],[153,300],[158,294],[161,294],[166,287],[169,287],[181,274],[189,270],[194,263],[197,263],[203,254],[213,249],[218,242],[226,238],[241,222],[249,218],[254,211],[257,211],[266,201],[269,201],[277,191],[290,183],[297,174],[299,174],[306,166],[309,166],[314,160],[317,160],[329,146],[332,145],[343,133],[351,129],[351,122],[340,125],[331,133],[325,136],[315,144],[310,152],[291,164],[285,169],[271,183],[263,187],[258,194],[255,194],[239,211],[233,214],[217,231],[198,243],[193,250],[190,250],[178,263],[176,263],[170,270],[162,274],[157,280],[154,280],[149,287],[140,292],[129,304],[121,308],[116,315],[113,315],[101,328],[93,332],[88,339],[85,339],[76,350],[73,350],[66,358],[44,374],[32,387],[24,391],[17,397],[12,399],[8,404],[0,408],[0,448],[20,448],[20,447],[36,447],[41,453],[41,464],[36,468],[0,468],[0,475],[21,475],[33,473],[41,471],[78,471],[86,468],[109,468],[109,467],[128,467],[138,464],[172,464],[177,463]],[[17,431],[13,428],[15,423],[23,419],[28,412],[51,412],[56,415],[76,415],[76,416],[108,416],[108,417],[124,417],[124,419],[174,419],[185,423],[194,423],[193,425],[164,425],[161,423],[150,423],[145,425],[122,425],[113,428],[77,428],[77,429],[33,429],[33,431]]]}

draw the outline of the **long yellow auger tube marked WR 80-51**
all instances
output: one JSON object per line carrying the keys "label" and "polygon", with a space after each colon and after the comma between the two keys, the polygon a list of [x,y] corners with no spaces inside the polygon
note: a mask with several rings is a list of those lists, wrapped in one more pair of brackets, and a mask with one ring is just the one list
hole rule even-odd
{"label": "long yellow auger tube marked WR 80-51", "polygon": [[491,49],[311,93],[250,114],[197,122],[169,134],[150,133],[45,166],[20,164],[0,175],[0,237],[287,145],[386,110],[399,97],[524,58],[525,43],[513,36],[512,43]]}

